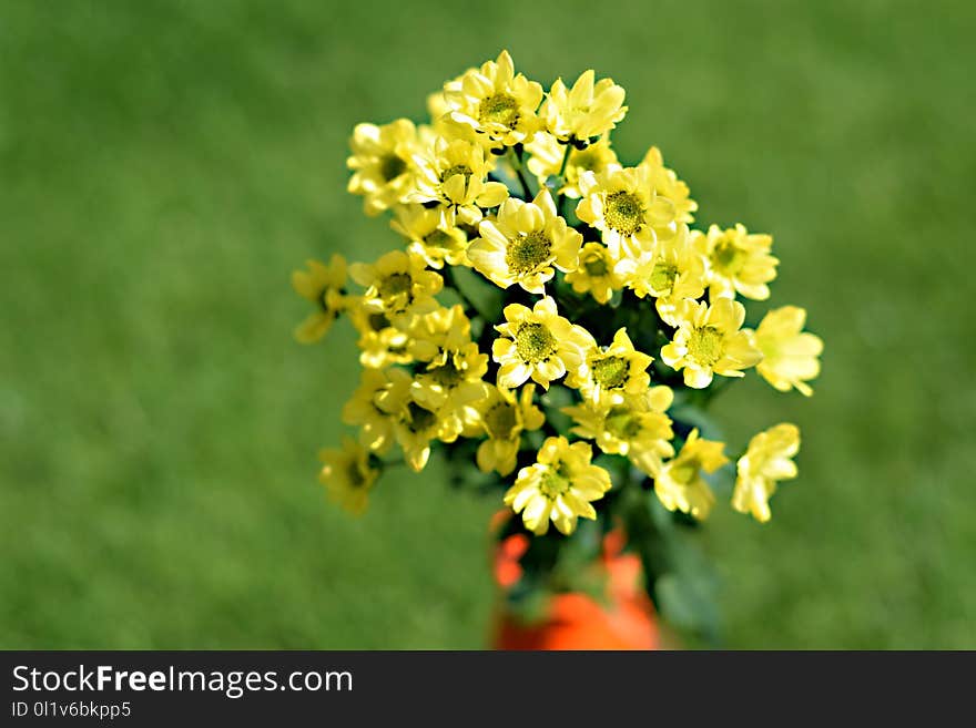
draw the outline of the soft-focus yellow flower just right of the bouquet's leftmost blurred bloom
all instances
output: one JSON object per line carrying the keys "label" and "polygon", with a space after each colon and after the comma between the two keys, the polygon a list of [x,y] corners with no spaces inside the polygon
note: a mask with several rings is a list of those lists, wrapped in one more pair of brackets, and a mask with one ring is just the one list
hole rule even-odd
{"label": "soft-focus yellow flower just right of the bouquet's leftmost blurred bloom", "polygon": [[390,250],[374,265],[353,264],[349,275],[366,287],[364,308],[384,314],[398,328],[409,326],[415,316],[435,310],[434,296],[444,286],[439,275],[425,269],[424,258],[403,250]]}

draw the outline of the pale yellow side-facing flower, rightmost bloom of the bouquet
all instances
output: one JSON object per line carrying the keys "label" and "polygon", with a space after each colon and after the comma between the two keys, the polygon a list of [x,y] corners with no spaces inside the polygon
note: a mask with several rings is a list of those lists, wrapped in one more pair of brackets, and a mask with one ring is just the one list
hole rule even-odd
{"label": "pale yellow side-facing flower, rightmost bloom of the bouquet", "polygon": [[806,310],[797,306],[783,306],[769,311],[755,330],[755,345],[763,360],[755,370],[781,392],[795,387],[806,397],[813,389],[805,383],[820,375],[823,340],[803,331]]}

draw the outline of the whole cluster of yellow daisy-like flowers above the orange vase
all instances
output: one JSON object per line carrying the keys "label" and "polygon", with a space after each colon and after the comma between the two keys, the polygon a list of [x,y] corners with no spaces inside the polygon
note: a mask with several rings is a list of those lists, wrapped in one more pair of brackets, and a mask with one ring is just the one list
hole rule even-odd
{"label": "whole cluster of yellow daisy-like flowers above the orange vase", "polygon": [[[349,510],[365,509],[394,443],[420,471],[437,443],[471,441],[481,471],[511,478],[504,502],[536,534],[594,519],[634,471],[664,507],[703,519],[704,474],[729,459],[673,416],[675,400],[751,368],[811,394],[823,345],[805,311],[746,327],[743,299],[767,299],[776,276],[772,238],[692,229],[698,204],[654,146],[621,164],[610,133],[623,101],[593,71],[546,92],[502,51],[433,94],[428,123],[356,126],[348,189],[367,215],[392,215],[403,245],[368,265],[309,262],[293,279],[314,306],[299,341],[339,314],[359,335],[362,381],[342,413],[358,439],[324,451],[321,473]],[[471,286],[501,306],[476,305]],[[753,438],[735,510],[770,517],[799,443],[792,424]]]}

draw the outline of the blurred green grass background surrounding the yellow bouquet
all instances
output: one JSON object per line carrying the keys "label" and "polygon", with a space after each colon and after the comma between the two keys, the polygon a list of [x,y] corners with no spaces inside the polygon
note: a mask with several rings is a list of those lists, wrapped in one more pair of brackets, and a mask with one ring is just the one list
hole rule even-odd
{"label": "blurred green grass background surrounding the yellow bouquet", "polygon": [[774,234],[826,341],[783,420],[801,478],[716,509],[729,647],[976,647],[972,3],[0,4],[0,647],[475,648],[497,503],[389,476],[352,520],[353,337],[302,348],[288,276],[396,238],[345,194],[359,121],[511,50],[628,91],[699,223]]}

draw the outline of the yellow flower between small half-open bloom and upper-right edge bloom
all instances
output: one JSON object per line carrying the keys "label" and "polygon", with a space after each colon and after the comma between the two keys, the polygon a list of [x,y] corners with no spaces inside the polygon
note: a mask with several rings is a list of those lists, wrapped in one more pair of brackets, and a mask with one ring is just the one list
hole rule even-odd
{"label": "yellow flower between small half-open bloom and upper-right edge bloom", "polygon": [[692,238],[688,225],[682,223],[678,234],[659,243],[653,253],[621,260],[618,271],[638,298],[657,298],[658,315],[669,326],[675,326],[681,301],[699,298],[705,291],[703,243]]}

